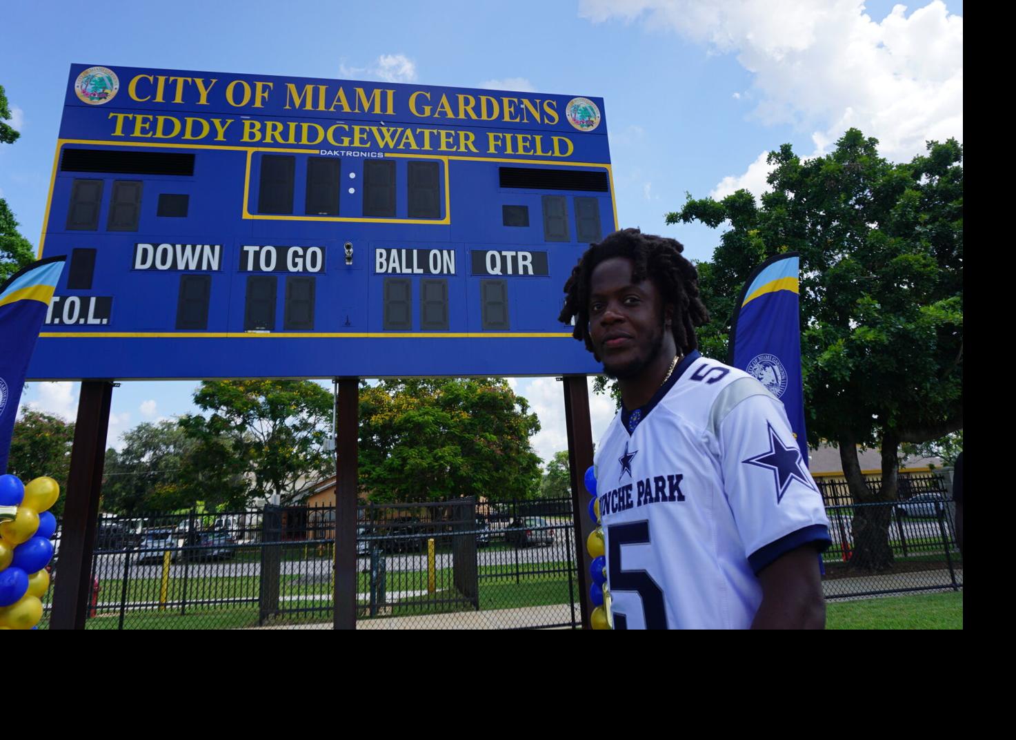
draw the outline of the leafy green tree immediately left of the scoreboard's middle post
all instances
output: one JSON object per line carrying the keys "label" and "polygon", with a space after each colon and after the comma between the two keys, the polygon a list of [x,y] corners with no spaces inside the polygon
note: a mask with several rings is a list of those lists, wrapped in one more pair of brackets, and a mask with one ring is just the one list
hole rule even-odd
{"label": "leafy green tree immediately left of the scoreboard's middle post", "polygon": [[205,381],[194,403],[207,416],[180,419],[199,443],[201,467],[223,466],[231,475],[250,476],[248,498],[277,494],[289,503],[307,480],[334,472],[324,450],[329,437],[332,395],[307,380]]}

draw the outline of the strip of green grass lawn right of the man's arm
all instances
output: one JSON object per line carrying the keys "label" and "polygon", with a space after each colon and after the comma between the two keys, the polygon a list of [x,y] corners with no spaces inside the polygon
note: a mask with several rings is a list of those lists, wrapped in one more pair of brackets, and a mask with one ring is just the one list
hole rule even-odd
{"label": "strip of green grass lawn right of the man's arm", "polygon": [[827,629],[962,629],[963,593],[826,602]]}

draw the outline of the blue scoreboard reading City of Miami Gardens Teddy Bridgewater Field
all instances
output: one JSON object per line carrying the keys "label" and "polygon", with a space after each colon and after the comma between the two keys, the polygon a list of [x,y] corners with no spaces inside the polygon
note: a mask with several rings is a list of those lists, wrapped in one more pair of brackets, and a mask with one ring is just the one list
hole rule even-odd
{"label": "blue scoreboard reading City of Miami Gardens Teddy Bridgewater Field", "polygon": [[598,98],[72,65],[30,379],[559,375]]}

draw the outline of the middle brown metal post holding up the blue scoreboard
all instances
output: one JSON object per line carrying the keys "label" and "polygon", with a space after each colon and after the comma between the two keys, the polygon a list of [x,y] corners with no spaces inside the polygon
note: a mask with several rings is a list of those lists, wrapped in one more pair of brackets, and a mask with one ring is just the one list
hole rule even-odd
{"label": "middle brown metal post holding up the blue scoreboard", "polygon": [[339,378],[335,400],[335,629],[357,628],[360,378]]}

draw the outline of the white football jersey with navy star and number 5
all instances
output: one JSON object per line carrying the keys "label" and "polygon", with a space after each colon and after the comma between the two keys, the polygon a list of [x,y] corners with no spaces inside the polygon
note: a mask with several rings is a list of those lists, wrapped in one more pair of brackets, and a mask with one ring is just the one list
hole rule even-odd
{"label": "white football jersey with navy star and number 5", "polygon": [[756,573],[829,544],[783,405],[698,352],[645,407],[618,414],[595,475],[615,629],[747,628]]}

